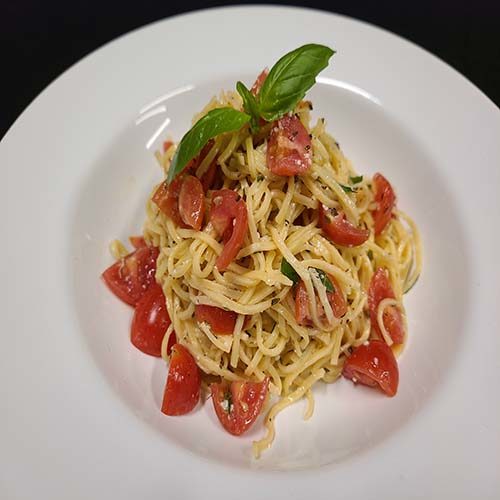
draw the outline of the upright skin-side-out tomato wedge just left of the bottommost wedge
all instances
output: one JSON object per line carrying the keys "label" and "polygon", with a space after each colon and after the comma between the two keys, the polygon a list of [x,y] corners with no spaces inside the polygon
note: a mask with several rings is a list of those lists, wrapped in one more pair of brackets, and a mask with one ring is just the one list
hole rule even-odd
{"label": "upright skin-side-out tomato wedge just left of the bottommost wedge", "polygon": [[191,353],[181,344],[172,347],[161,411],[165,415],[189,413],[200,399],[200,370]]}

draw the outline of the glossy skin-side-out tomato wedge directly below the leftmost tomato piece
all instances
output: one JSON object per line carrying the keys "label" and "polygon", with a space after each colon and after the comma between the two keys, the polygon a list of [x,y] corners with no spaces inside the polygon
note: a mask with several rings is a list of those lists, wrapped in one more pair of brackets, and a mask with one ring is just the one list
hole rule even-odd
{"label": "glossy skin-side-out tomato wedge directly below the leftmost tomato piece", "polygon": [[165,295],[158,284],[153,284],[137,303],[130,338],[137,349],[161,356],[161,343],[167,328],[170,326]]}

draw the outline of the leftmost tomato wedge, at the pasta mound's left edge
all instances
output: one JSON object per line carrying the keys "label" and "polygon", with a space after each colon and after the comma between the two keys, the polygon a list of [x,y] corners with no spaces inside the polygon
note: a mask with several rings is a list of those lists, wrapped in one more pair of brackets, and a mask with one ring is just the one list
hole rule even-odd
{"label": "leftmost tomato wedge, at the pasta mound's left edge", "polygon": [[102,278],[119,299],[135,306],[155,282],[158,254],[156,247],[138,248],[108,267]]}

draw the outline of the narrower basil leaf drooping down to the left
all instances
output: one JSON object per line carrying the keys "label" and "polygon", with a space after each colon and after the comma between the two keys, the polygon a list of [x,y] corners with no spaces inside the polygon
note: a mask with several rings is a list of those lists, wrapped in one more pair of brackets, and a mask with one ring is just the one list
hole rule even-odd
{"label": "narrower basil leaf drooping down to the left", "polygon": [[200,118],[179,143],[168,169],[167,184],[182,172],[210,139],[225,132],[239,130],[249,120],[249,115],[233,108],[212,109]]}

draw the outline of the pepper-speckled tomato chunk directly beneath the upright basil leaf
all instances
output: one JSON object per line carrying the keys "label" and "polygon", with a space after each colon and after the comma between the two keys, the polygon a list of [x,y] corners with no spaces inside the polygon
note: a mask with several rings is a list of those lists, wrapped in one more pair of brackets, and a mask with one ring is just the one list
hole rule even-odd
{"label": "pepper-speckled tomato chunk directly beneath the upright basil leaf", "polygon": [[305,173],[312,162],[311,138],[296,115],[275,122],[267,143],[267,166],[273,174],[292,176]]}

